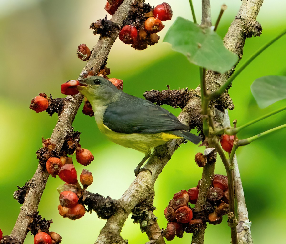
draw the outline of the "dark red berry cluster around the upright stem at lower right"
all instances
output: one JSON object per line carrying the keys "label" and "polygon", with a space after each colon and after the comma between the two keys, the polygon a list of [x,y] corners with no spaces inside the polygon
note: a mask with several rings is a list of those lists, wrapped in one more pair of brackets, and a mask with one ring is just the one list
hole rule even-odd
{"label": "dark red berry cluster around the upright stem at lower right", "polygon": [[212,187],[207,193],[207,202],[204,205],[203,213],[197,213],[188,203],[196,204],[200,181],[196,187],[188,191],[182,190],[176,193],[170,200],[164,211],[168,221],[164,236],[171,241],[175,236],[182,238],[183,233],[192,233],[206,224],[216,225],[222,221],[222,216],[229,212],[228,186],[225,175],[215,175]]}

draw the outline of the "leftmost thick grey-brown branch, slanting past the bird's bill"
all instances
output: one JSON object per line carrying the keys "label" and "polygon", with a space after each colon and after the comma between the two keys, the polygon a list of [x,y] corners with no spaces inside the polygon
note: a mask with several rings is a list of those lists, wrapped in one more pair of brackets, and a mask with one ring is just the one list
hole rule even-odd
{"label": "leftmost thick grey-brown branch, slanting past the bird's bill", "polygon": [[[114,16],[111,18],[111,21],[116,23],[118,26],[121,26],[124,19],[126,19],[128,15],[131,8],[130,4],[132,2],[133,0],[124,0],[122,5],[118,8],[118,11],[116,11]],[[110,49],[117,38],[118,33],[119,29],[115,30],[110,37],[100,38],[94,47],[90,59],[82,70],[81,75],[87,73],[90,71],[90,69],[92,69],[94,73],[99,71],[100,67],[104,64],[104,61],[108,57]],[[74,96],[67,96],[67,98],[64,100],[63,109],[61,113],[59,113],[57,125],[55,126],[55,129],[51,135],[51,142],[57,146],[57,154],[61,150],[65,136],[67,135],[67,131],[72,130],[72,122],[74,121],[74,117],[78,111],[82,99],[83,96],[79,93]],[[31,187],[27,191],[18,219],[15,223],[14,229],[11,232],[11,236],[19,239],[21,243],[24,242],[28,232],[28,224],[31,222],[31,217],[29,217],[29,215],[32,215],[35,213],[35,211],[37,211],[48,177],[49,174],[46,171],[43,171],[43,168],[38,165],[35,175],[30,180]]]}

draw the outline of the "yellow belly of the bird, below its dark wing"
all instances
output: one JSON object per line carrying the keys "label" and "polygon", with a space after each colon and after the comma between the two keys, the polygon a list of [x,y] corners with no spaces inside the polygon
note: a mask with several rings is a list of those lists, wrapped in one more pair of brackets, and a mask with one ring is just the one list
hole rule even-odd
{"label": "yellow belly of the bird, below its dark wing", "polygon": [[151,154],[151,149],[158,145],[165,143],[166,141],[170,141],[172,139],[181,138],[177,135],[173,135],[171,132],[160,132],[156,134],[148,134],[148,133],[118,133],[112,131],[103,123],[98,124],[98,128],[102,133],[107,135],[107,137],[116,144],[122,145],[124,147],[133,148],[137,151],[145,153],[145,155]]}

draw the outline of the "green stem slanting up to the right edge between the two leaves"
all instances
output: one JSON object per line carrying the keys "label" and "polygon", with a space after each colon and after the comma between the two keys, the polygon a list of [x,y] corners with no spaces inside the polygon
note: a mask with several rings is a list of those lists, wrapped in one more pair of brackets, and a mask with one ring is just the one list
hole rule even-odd
{"label": "green stem slanting up to the right edge between the two leaves", "polygon": [[258,49],[237,71],[233,73],[233,75],[221,87],[219,87],[219,89],[217,89],[216,91],[210,94],[210,98],[215,99],[216,97],[221,95],[221,93],[225,91],[225,89],[231,84],[231,82],[233,82],[233,80],[247,67],[247,65],[249,65],[253,61],[253,59],[255,59],[260,53],[262,53],[267,47],[269,47],[272,43],[277,41],[285,33],[286,33],[286,29],[282,33],[280,33],[277,37],[273,38],[271,41],[266,43],[263,47]]}

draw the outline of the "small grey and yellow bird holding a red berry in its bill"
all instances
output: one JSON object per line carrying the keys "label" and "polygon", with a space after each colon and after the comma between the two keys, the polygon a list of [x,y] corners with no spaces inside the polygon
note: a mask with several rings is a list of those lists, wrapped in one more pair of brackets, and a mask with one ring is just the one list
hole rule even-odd
{"label": "small grey and yellow bird holding a red berry in its bill", "polygon": [[184,138],[195,144],[202,140],[168,110],[117,89],[103,77],[78,81],[80,84],[75,88],[92,105],[100,131],[111,141],[145,154],[134,170],[136,176],[145,170],[140,168],[150,157],[152,148],[172,139]]}

